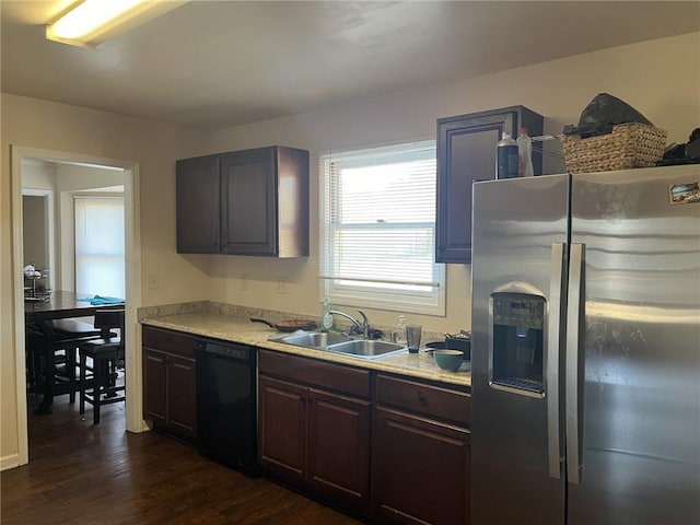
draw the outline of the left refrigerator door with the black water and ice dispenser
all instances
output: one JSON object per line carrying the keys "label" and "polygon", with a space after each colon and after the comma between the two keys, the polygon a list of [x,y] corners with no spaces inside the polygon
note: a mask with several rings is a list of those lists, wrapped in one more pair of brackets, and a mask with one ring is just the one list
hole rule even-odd
{"label": "left refrigerator door with the black water and ice dispenser", "polygon": [[557,362],[568,185],[563,175],[474,186],[475,525],[564,521]]}

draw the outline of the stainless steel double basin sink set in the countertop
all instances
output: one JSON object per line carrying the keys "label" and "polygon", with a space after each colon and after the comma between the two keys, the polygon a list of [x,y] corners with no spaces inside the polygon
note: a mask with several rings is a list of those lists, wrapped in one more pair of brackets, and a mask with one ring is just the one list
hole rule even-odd
{"label": "stainless steel double basin sink set in the countertop", "polygon": [[406,347],[395,342],[377,339],[359,339],[342,334],[329,331],[304,331],[275,338],[275,341],[294,345],[295,347],[326,350],[328,352],[354,355],[364,359],[377,359],[385,355],[401,353]]}

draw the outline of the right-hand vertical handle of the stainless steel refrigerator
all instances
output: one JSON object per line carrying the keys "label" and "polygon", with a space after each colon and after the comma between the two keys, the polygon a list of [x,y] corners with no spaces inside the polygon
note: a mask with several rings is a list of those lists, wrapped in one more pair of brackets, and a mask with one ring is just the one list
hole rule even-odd
{"label": "right-hand vertical handle of the stainless steel refrigerator", "polygon": [[569,256],[569,292],[567,295],[567,478],[579,485],[582,478],[581,460],[581,323],[584,300],[585,245],[572,244]]}

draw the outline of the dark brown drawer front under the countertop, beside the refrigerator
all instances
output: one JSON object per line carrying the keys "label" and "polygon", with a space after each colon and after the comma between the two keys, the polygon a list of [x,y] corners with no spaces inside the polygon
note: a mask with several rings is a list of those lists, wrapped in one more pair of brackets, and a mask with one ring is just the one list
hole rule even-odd
{"label": "dark brown drawer front under the countertop, beside the refrigerator", "polygon": [[469,425],[471,396],[416,381],[387,375],[376,376],[376,398],[380,405]]}

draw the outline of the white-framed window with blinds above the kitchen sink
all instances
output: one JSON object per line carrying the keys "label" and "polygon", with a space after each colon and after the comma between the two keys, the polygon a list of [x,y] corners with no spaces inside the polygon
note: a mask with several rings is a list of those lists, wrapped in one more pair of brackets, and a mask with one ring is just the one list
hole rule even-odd
{"label": "white-framed window with blinds above the kitchen sink", "polygon": [[435,141],[320,158],[320,278],[334,303],[444,315]]}

